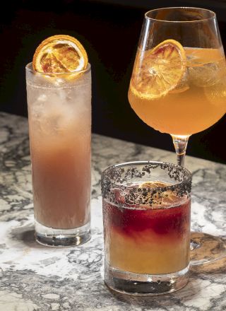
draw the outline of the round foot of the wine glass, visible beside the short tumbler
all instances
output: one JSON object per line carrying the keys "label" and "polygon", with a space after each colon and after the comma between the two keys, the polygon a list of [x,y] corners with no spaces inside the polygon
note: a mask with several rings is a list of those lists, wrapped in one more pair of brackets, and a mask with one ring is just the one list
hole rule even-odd
{"label": "round foot of the wine glass, visible beside the short tumbler", "polygon": [[220,237],[207,233],[191,233],[191,266],[208,264],[226,257],[226,243]]}

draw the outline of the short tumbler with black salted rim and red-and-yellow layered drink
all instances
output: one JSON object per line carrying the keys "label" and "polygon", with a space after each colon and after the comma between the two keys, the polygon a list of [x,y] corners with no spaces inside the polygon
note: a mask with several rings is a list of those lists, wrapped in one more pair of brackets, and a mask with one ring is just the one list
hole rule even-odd
{"label": "short tumbler with black salted rim and red-and-yellow layered drink", "polygon": [[102,173],[105,283],[135,295],[177,291],[189,280],[191,174],[131,162]]}

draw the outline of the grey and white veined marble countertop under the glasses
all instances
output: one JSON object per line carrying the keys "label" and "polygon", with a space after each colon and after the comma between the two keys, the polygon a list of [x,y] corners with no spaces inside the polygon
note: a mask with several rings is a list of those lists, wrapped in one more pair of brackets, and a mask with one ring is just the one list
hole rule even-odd
{"label": "grey and white veined marble countertop under the glasses", "polygon": [[[152,298],[112,293],[103,283],[100,172],[131,160],[175,161],[174,153],[93,134],[92,239],[65,249],[34,240],[28,120],[0,113],[1,311],[226,310],[226,259],[194,266],[188,285]],[[226,165],[186,157],[193,174],[191,227],[226,238]]]}

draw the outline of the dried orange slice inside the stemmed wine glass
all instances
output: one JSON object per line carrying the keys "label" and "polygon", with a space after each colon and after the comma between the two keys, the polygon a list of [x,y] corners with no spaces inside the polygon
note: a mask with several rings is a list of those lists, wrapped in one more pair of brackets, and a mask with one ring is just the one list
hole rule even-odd
{"label": "dried orange slice inside the stemmed wine glass", "polygon": [[176,40],[165,40],[146,52],[138,52],[131,90],[138,97],[155,99],[179,84],[186,70],[184,47]]}

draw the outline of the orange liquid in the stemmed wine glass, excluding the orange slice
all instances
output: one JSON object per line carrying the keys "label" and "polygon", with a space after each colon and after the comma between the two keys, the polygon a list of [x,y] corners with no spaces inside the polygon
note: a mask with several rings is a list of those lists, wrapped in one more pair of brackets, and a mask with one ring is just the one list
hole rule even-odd
{"label": "orange liquid in the stemmed wine glass, excluding the orange slice", "polygon": [[[176,88],[159,98],[136,93],[136,75],[147,52],[138,52],[129,88],[131,107],[143,122],[174,135],[191,135],[215,124],[226,112],[226,64],[222,49],[184,48],[186,69]],[[152,74],[154,61],[150,63]],[[160,64],[167,70],[170,64]],[[160,67],[161,69],[161,67]],[[162,80],[162,76],[158,76]],[[134,91],[135,90],[135,91]]]}

